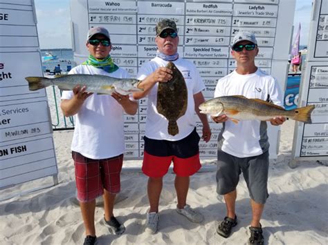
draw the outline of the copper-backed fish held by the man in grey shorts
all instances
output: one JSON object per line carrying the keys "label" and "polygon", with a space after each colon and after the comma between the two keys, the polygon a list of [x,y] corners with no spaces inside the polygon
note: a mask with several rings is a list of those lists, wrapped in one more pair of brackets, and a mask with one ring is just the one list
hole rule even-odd
{"label": "copper-backed fish held by the man in grey shorts", "polygon": [[235,123],[238,123],[239,120],[268,121],[273,117],[289,117],[311,124],[311,112],[314,108],[315,106],[312,105],[285,110],[262,99],[247,99],[241,95],[217,97],[199,105],[201,113],[214,117],[226,114]]}

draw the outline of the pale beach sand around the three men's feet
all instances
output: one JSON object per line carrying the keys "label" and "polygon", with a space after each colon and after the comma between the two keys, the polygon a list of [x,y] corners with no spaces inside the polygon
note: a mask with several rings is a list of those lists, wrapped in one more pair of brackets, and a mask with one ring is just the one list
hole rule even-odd
{"label": "pale beach sand around the three men's feet", "polygon": [[[268,190],[270,197],[262,216],[266,244],[327,244],[328,168],[316,161],[302,161],[291,169],[294,121],[282,126],[280,152],[271,160]],[[0,241],[3,244],[83,244],[84,226],[75,199],[74,168],[71,160],[72,131],[54,133],[59,184],[0,202]],[[210,165],[204,161],[204,165]],[[125,167],[140,167],[141,161],[125,161]],[[46,186],[51,179],[39,179],[23,188]],[[164,178],[160,201],[158,233],[144,232],[148,210],[147,177],[142,173],[122,172],[121,202],[115,215],[125,224],[123,235],[116,236],[102,226],[104,210],[95,210],[99,244],[246,244],[251,218],[250,199],[244,179],[237,187],[236,213],[239,223],[225,239],[216,233],[219,220],[226,216],[222,197],[216,193],[215,172],[191,177],[188,204],[203,213],[205,220],[193,224],[174,210],[174,175]],[[9,190],[8,190],[9,191]],[[1,195],[5,195],[1,193]]]}

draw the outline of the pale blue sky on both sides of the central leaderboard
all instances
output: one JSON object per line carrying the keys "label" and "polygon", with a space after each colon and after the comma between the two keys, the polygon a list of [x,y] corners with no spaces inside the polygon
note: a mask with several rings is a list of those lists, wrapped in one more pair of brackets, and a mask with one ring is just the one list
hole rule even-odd
{"label": "pale blue sky on both sides of the central leaderboard", "polygon": [[[34,2],[40,48],[72,48],[70,0],[34,0]],[[311,3],[312,0],[296,0],[295,6],[294,30],[297,29],[298,23],[301,23],[300,45],[304,46],[307,46],[309,38]]]}

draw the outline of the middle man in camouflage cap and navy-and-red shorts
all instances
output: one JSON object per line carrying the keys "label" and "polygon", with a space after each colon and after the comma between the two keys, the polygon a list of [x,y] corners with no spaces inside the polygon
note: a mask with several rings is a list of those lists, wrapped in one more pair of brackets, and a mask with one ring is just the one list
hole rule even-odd
{"label": "middle man in camouflage cap and navy-and-red shorts", "polygon": [[[203,215],[190,208],[186,199],[190,184],[190,176],[201,168],[199,160],[199,135],[196,131],[196,112],[203,124],[203,139],[208,142],[211,132],[206,115],[199,112],[199,104],[204,101],[202,90],[205,88],[199,72],[194,64],[179,58],[178,30],[171,19],[163,19],[156,25],[156,57],[145,63],[138,72],[138,79],[143,80],[139,88],[143,92],[135,92],[134,99],[148,96],[147,121],[145,130],[145,149],[143,157],[143,173],[149,177],[147,192],[149,213],[147,213],[146,229],[148,233],[156,233],[158,229],[158,203],[163,187],[163,176],[167,173],[171,161],[176,174],[174,186],[178,204],[176,212],[187,217],[191,222],[200,223]],[[156,109],[158,83],[172,79],[172,70],[165,68],[172,61],[181,71],[188,89],[188,108],[185,115],[177,120],[179,133],[169,135],[168,121]]]}

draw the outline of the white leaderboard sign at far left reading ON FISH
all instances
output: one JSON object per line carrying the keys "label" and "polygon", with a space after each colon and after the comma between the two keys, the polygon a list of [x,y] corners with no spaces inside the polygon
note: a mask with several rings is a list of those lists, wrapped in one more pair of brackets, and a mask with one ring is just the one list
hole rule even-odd
{"label": "white leaderboard sign at far left reading ON FISH", "polygon": [[25,77],[42,76],[31,0],[0,0],[0,188],[57,175],[45,90]]}

